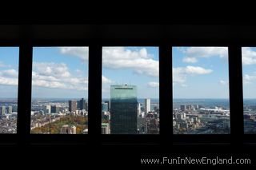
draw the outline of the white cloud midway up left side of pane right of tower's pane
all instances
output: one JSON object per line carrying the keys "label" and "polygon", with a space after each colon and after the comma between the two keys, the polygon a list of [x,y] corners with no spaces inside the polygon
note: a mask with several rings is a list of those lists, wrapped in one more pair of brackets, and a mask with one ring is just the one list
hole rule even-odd
{"label": "white cloud midway up left side of pane right of tower's pane", "polygon": [[211,69],[204,69],[202,67],[195,67],[191,65],[187,65],[186,67],[177,67],[173,68],[173,82],[174,85],[176,83],[181,84],[182,86],[186,86],[184,83],[186,82],[186,77],[189,75],[202,75],[212,73]]}

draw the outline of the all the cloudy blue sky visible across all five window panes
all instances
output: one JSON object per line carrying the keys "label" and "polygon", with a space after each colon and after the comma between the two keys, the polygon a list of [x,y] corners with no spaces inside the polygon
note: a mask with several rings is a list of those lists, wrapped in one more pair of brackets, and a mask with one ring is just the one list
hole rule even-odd
{"label": "all the cloudy blue sky visible across all five window panes", "polygon": [[[102,98],[110,85],[137,85],[158,98],[158,47],[103,47]],[[256,48],[242,48],[243,94],[256,98]],[[32,97],[87,98],[87,47],[34,47]],[[173,47],[174,98],[228,98],[226,47]],[[18,96],[18,47],[0,47],[0,98]]]}

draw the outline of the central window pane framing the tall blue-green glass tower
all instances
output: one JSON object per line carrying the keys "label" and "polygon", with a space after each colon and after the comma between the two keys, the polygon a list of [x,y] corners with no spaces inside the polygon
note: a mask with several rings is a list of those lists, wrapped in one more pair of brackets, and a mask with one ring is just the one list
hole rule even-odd
{"label": "central window pane framing the tall blue-green glass tower", "polygon": [[102,49],[102,134],[158,134],[158,48]]}

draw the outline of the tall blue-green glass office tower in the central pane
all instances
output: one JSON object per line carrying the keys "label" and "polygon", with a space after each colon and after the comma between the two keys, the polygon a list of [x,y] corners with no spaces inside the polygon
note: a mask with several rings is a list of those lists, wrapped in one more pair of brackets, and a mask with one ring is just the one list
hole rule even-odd
{"label": "tall blue-green glass office tower in the central pane", "polygon": [[111,134],[137,133],[137,104],[135,85],[110,86]]}

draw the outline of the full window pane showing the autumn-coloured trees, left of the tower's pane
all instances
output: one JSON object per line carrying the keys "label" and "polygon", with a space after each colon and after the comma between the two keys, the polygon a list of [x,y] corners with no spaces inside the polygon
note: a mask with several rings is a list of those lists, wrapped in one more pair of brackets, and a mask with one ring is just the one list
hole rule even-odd
{"label": "full window pane showing the autumn-coloured trees, left of the tower's pane", "polygon": [[87,47],[33,49],[31,133],[88,132]]}

